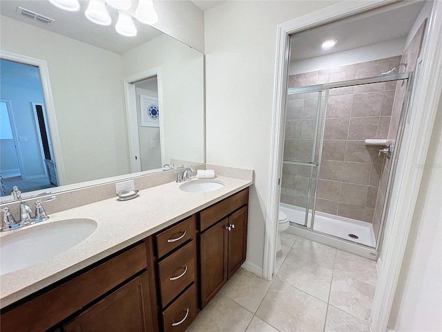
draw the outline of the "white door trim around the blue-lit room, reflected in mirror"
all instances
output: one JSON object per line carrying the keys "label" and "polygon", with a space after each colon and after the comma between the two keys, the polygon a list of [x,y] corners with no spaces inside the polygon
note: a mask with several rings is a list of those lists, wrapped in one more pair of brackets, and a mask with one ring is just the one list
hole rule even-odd
{"label": "white door trim around the blue-lit room, reflected in mirror", "polygon": [[37,66],[39,68],[41,89],[43,90],[44,104],[46,106],[46,116],[48,117],[47,124],[50,133],[50,140],[52,142],[52,157],[54,158],[54,163],[56,165],[55,169],[57,172],[57,179],[59,181],[59,185],[66,185],[66,174],[64,172],[63,154],[61,151],[57,116],[55,114],[54,98],[52,96],[52,88],[50,85],[48,62],[43,59],[28,57],[27,55],[12,53],[7,50],[0,50],[0,58],[13,62],[19,62],[21,64]]}

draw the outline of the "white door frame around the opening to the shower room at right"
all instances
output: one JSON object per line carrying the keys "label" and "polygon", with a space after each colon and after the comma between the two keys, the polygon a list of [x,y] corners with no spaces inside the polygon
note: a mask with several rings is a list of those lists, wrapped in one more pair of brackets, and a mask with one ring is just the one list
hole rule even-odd
{"label": "white door frame around the opening to the shower room at right", "polygon": [[[331,21],[344,19],[360,12],[379,8],[396,1],[343,1],[318,10],[309,15],[288,21],[278,26],[275,88],[273,91],[273,124],[271,140],[271,167],[269,174],[269,196],[265,223],[265,248],[263,277],[271,279],[276,257],[276,234],[278,232],[279,179],[282,163],[282,140],[284,135],[285,98],[289,59],[289,35],[299,33]],[[397,6],[404,6],[398,3]],[[385,331],[393,304],[394,294],[401,272],[401,264],[412,223],[412,216],[425,163],[430,137],[442,89],[442,1],[434,1],[429,24],[425,33],[423,65],[416,82],[414,102],[409,111],[412,119],[404,134],[403,146],[396,168],[395,185],[392,192],[384,230],[385,250],[381,275],[378,277],[372,306],[372,331]],[[439,73],[439,75],[437,74]],[[425,112],[419,111],[424,110]],[[400,222],[399,222],[400,221]],[[394,234],[394,237],[392,236]]]}

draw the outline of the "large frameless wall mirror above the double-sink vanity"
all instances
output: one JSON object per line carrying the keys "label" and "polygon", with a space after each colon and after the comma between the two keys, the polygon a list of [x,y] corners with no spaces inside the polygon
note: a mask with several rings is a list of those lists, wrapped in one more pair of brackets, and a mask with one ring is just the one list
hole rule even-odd
{"label": "large frameless wall mirror above the double-sink vanity", "polygon": [[[46,181],[57,192],[204,163],[204,55],[137,21],[137,37],[118,35],[89,22],[86,5],[1,1],[2,196],[12,185],[41,192]],[[15,55],[44,60],[50,86]]]}

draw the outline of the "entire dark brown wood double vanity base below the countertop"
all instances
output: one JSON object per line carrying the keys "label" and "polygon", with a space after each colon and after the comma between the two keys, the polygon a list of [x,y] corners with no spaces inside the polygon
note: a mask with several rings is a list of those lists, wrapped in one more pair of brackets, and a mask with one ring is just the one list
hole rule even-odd
{"label": "entire dark brown wood double vanity base below the countertop", "polygon": [[1,332],[182,332],[246,259],[249,189],[1,310]]}

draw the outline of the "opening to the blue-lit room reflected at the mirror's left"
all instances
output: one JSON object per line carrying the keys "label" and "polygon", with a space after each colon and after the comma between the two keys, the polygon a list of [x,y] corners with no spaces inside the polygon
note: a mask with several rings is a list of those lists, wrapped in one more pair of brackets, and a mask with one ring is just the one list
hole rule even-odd
{"label": "opening to the blue-lit room reflected at the mirror's left", "polygon": [[39,66],[1,59],[1,97],[2,120],[7,114],[12,136],[1,140],[2,196],[14,186],[21,192],[57,186]]}

